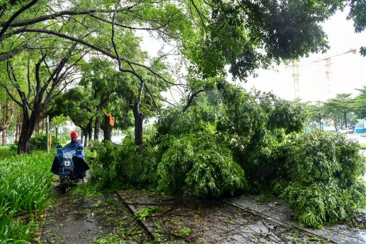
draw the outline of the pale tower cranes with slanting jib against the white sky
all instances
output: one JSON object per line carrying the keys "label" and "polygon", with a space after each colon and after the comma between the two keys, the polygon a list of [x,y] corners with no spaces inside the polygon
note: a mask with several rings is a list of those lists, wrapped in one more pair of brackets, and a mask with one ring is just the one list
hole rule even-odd
{"label": "pale tower cranes with slanting jib against the white sky", "polygon": [[357,52],[356,49],[350,49],[346,52],[338,53],[338,54],[333,55],[333,56],[326,56],[325,58],[314,60],[314,61],[311,61],[310,63],[303,64],[303,65],[299,65],[298,60],[292,62],[292,71],[293,71],[292,76],[294,77],[295,100],[300,99],[300,94],[299,94],[300,93],[299,92],[300,91],[300,89],[299,89],[299,67],[303,67],[305,65],[309,65],[309,64],[313,64],[313,63],[319,63],[320,61],[325,61],[325,77],[328,80],[328,93],[330,93],[330,86],[331,86],[331,80],[332,80],[332,70],[331,70],[332,62],[331,62],[331,59],[333,57],[337,57],[337,56],[344,55],[344,54],[347,54],[347,53],[356,54],[356,52]]}

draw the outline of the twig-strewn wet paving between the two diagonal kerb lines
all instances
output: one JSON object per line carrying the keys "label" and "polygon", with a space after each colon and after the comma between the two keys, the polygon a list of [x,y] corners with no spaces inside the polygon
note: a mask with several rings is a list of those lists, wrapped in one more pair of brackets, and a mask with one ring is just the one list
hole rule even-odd
{"label": "twig-strewn wet paving between the two diagonal kerb lines", "polygon": [[145,212],[158,243],[326,243],[294,225],[284,226],[230,202],[120,191]]}

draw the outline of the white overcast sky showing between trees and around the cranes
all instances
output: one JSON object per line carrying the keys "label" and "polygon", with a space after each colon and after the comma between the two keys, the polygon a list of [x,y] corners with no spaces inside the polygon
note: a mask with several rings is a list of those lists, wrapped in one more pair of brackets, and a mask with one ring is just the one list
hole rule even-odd
{"label": "white overcast sky showing between trees and around the cranes", "polygon": [[[347,21],[348,9],[344,12],[337,12],[327,22],[323,24],[325,33],[328,34],[330,49],[326,54],[312,54],[309,58],[301,59],[300,65],[311,61],[333,56],[338,53],[356,49],[357,53],[348,53],[332,59],[331,66],[331,86],[328,92],[328,81],[325,77],[325,61],[299,67],[299,95],[302,101],[325,101],[330,97],[335,97],[337,93],[354,93],[356,88],[366,85],[364,70],[366,67],[366,57],[363,58],[358,50],[362,45],[366,45],[366,32],[354,33],[352,21]],[[147,34],[143,36],[143,48],[150,56],[156,56],[161,44],[150,38]],[[171,47],[164,50],[169,51]],[[172,58],[169,58],[172,61]],[[258,70],[257,78],[249,78],[242,86],[246,89],[255,87],[261,91],[272,91],[281,98],[293,100],[294,78],[292,67],[281,65],[276,68],[279,72],[269,70]],[[228,80],[231,80],[228,74]],[[169,101],[173,102],[170,94],[164,93]]]}

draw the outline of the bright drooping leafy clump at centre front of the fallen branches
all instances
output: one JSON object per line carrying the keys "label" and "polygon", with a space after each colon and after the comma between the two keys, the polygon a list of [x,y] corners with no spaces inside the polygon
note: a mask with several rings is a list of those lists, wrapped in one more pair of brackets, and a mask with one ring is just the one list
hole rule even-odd
{"label": "bright drooping leafy clump at centre front of the fallen branches", "polygon": [[231,152],[206,135],[167,138],[169,148],[158,164],[159,189],[167,193],[221,196],[244,189],[244,171]]}

